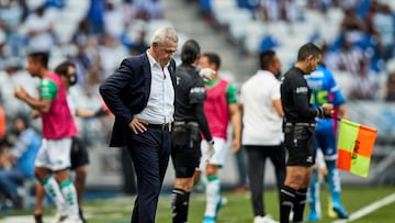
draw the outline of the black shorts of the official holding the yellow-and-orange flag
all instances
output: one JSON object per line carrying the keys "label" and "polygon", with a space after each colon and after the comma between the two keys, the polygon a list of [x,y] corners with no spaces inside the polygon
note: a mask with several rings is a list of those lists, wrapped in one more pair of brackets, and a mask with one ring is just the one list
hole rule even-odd
{"label": "black shorts of the official holding the yellow-and-orange flag", "polygon": [[285,148],[289,152],[286,166],[315,164],[315,126],[285,125]]}

